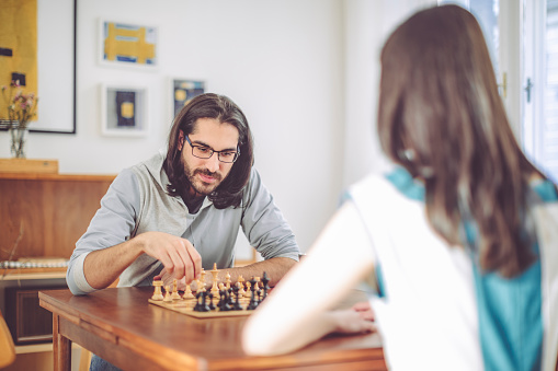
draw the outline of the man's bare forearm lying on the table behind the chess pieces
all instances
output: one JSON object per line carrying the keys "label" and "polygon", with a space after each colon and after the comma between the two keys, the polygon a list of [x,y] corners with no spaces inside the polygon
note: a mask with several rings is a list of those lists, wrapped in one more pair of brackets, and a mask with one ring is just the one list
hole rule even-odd
{"label": "man's bare forearm lying on the table behind the chess pieces", "polygon": [[[296,264],[297,262],[288,257],[273,257],[267,260],[253,263],[244,267],[220,269],[218,274],[219,282],[225,282],[227,273],[230,275],[232,283],[238,281],[238,277],[242,276],[244,280],[249,280],[252,277],[263,277],[263,273],[267,274],[270,279],[269,285],[271,287],[277,285],[283,276]],[[205,283],[210,287],[213,276],[209,271],[206,271]]]}

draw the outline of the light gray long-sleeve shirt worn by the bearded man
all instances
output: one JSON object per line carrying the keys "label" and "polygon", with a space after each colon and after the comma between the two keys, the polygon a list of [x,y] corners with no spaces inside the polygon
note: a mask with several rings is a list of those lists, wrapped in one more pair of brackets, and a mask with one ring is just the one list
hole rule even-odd
{"label": "light gray long-sleeve shirt worn by the bearded man", "polygon": [[[95,290],[83,273],[83,262],[90,252],[115,246],[148,231],[187,239],[202,255],[202,265],[207,270],[214,263],[221,269],[232,267],[239,227],[264,259],[298,260],[295,236],[255,169],[252,167],[240,207],[219,210],[206,197],[200,211],[192,215],[181,197],[167,194],[169,179],[162,169],[163,160],[158,153],[116,176],[87,232],[76,243],[66,274],[72,293]],[[161,269],[159,260],[143,254],[122,273],[118,286],[151,285]]]}

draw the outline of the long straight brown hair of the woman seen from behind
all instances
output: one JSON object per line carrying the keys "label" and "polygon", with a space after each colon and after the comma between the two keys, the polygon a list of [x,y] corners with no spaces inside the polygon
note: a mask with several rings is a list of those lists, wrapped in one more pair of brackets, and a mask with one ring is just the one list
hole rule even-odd
{"label": "long straight brown hair of the woman seen from behind", "polygon": [[466,243],[469,221],[485,271],[514,277],[531,265],[528,179],[544,176],[515,141],[469,12],[423,10],[388,38],[378,135],[384,152],[424,181],[429,221],[451,245]]}

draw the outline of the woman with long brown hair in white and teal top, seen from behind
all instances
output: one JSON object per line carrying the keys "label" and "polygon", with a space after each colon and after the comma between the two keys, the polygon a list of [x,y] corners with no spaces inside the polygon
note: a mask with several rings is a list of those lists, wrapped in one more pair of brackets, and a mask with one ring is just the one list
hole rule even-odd
{"label": "woman with long brown hair in white and teal top, seen from behind", "polygon": [[554,370],[557,188],[514,139],[475,18],[444,5],[401,24],[382,53],[378,106],[394,171],[351,187],[247,322],[246,351],[369,331],[357,312],[328,312],[331,292],[366,278],[392,369]]}

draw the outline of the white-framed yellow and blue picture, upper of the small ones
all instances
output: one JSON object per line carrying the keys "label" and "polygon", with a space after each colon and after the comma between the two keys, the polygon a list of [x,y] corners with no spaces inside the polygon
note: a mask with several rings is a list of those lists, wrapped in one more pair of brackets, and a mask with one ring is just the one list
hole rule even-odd
{"label": "white-framed yellow and blue picture, upper of the small ones", "polygon": [[157,27],[100,20],[99,62],[156,70]]}

